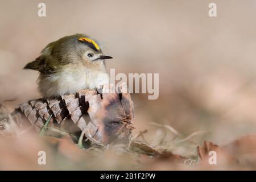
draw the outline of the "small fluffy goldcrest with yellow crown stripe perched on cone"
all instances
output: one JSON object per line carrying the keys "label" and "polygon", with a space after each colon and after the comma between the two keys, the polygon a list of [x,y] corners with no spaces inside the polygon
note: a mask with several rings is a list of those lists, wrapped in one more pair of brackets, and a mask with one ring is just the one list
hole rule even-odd
{"label": "small fluffy goldcrest with yellow crown stripe perched on cone", "polygon": [[38,89],[43,97],[58,97],[108,83],[105,59],[112,58],[88,36],[75,34],[49,43],[24,69],[40,72]]}

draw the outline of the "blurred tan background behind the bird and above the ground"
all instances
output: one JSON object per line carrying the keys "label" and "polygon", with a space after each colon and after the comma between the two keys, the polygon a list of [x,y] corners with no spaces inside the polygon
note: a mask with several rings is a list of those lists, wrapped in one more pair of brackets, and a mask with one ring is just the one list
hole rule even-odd
{"label": "blurred tan background behind the bird and above the ground", "polygon": [[[46,3],[39,17],[38,3]],[[210,2],[217,17],[208,16]],[[159,98],[133,94],[140,130],[150,122],[217,144],[256,133],[256,2],[0,1],[0,103],[40,97],[23,70],[49,43],[84,33],[99,40],[108,70],[159,73]],[[14,100],[14,101],[6,101]]]}

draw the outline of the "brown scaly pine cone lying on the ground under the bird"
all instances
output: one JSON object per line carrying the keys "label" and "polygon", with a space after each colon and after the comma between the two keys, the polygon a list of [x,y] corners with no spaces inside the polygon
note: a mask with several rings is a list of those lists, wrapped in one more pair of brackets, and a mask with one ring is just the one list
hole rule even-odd
{"label": "brown scaly pine cone lying on the ground under the bird", "polygon": [[39,132],[48,121],[47,128],[77,136],[83,131],[92,143],[127,142],[134,129],[134,106],[127,85],[122,84],[118,90],[119,94],[111,85],[104,85],[59,98],[31,100],[15,109],[11,118],[22,133]]}

